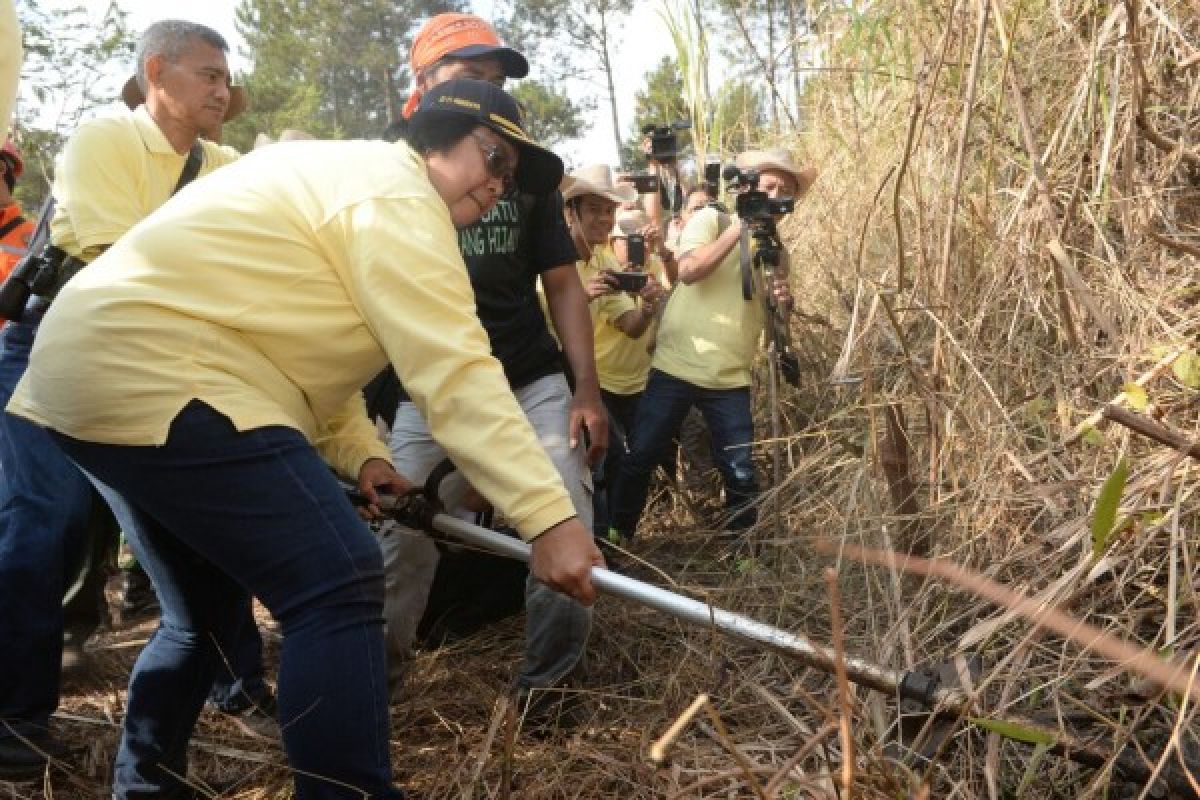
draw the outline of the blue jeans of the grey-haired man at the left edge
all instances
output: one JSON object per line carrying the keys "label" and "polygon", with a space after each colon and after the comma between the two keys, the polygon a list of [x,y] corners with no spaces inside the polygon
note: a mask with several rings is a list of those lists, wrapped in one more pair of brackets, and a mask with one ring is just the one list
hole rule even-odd
{"label": "blue jeans of the grey-haired man at the left edge", "polygon": [[[0,408],[29,366],[36,315],[0,341]],[[83,391],[83,387],[80,387]],[[44,732],[59,705],[62,595],[86,549],[92,488],[50,435],[0,413],[0,736]]]}

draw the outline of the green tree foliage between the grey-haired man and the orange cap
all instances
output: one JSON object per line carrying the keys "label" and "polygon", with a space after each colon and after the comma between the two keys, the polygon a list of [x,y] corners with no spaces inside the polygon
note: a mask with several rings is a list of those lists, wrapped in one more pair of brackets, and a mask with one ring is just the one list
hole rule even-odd
{"label": "green tree foliage between the grey-haired man and the orange cap", "polygon": [[400,113],[418,25],[463,0],[241,0],[238,31],[253,61],[252,112],[226,139],[299,127],[324,137],[377,137]]}

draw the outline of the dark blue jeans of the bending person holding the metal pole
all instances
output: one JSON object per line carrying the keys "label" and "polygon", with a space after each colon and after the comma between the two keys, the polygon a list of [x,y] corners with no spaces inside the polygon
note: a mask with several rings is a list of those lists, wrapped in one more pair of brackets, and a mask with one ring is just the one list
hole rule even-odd
{"label": "dark blue jeans of the bending person holding the metal pole", "polygon": [[239,433],[193,401],[161,447],[55,438],[113,506],[162,606],[130,678],[114,796],[182,790],[187,741],[253,595],[283,631],[278,712],[296,798],[402,798],[388,750],[383,559],[304,435]]}

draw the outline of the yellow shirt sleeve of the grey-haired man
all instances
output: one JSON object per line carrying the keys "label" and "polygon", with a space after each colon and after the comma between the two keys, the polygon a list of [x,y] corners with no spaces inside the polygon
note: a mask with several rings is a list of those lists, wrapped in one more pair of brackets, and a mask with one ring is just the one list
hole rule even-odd
{"label": "yellow shirt sleeve of the grey-haired man", "polygon": [[132,126],[84,124],[67,139],[54,174],[54,199],[67,210],[85,260],[145,216],[131,157],[142,150]]}

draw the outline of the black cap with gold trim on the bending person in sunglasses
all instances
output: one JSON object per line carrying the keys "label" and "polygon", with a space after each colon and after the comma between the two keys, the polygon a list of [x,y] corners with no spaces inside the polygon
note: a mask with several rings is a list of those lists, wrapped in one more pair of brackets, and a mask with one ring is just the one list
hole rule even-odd
{"label": "black cap with gold trim on the bending person in sunglasses", "polygon": [[517,149],[516,181],[522,192],[548,194],[563,180],[563,160],[536,144],[521,127],[517,101],[486,80],[446,80],[426,92],[409,120],[412,130],[434,126],[445,114],[470,116]]}

